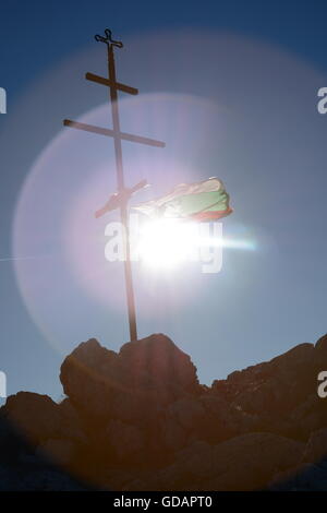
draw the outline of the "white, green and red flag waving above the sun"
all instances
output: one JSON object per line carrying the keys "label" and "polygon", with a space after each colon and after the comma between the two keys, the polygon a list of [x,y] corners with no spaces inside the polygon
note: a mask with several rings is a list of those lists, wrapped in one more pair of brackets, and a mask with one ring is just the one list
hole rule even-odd
{"label": "white, green and red flag waving above the sun", "polygon": [[180,183],[169,194],[133,206],[149,217],[216,220],[231,214],[229,194],[218,178]]}

